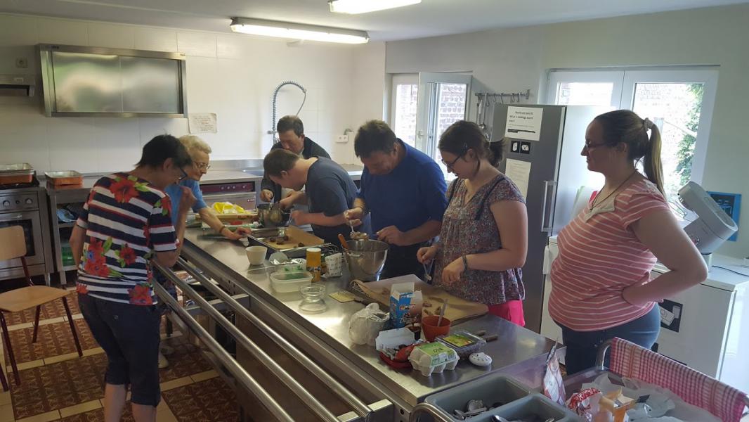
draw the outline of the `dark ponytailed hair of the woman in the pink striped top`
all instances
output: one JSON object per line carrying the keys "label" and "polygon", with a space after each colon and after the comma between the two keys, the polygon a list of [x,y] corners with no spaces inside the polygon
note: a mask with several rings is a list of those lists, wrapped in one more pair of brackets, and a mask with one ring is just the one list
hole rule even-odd
{"label": "dark ponytailed hair of the woman in the pink striped top", "polygon": [[[593,121],[601,124],[604,132],[604,142],[609,146],[616,146],[620,142],[627,145],[629,159],[643,161],[643,169],[649,181],[664,194],[663,168],[661,166],[661,132],[658,126],[649,119],[640,118],[631,110],[614,110],[596,116]],[[648,137],[648,129],[650,137]]]}

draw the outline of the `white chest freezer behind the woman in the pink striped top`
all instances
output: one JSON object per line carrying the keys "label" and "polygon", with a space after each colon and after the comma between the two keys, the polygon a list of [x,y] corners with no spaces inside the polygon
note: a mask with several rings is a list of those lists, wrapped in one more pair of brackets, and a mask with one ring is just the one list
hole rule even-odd
{"label": "white chest freezer behind the woman in the pink striped top", "polygon": [[[544,262],[541,334],[550,339],[559,338],[561,342],[562,331],[548,312],[551,292],[548,269],[558,253],[557,237],[549,238]],[[749,268],[741,266],[741,259],[719,255],[713,257],[712,264],[707,280],[660,304],[658,352],[739,390],[749,391]],[[658,263],[652,277],[666,271]]]}

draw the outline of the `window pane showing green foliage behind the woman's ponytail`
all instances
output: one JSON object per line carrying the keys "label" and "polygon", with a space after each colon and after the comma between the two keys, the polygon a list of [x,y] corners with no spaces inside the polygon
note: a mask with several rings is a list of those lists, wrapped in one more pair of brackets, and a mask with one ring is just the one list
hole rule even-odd
{"label": "window pane showing green foliage behind the woman's ponytail", "polygon": [[702,83],[637,83],[633,111],[661,130],[664,188],[676,198],[691,178],[703,100]]}

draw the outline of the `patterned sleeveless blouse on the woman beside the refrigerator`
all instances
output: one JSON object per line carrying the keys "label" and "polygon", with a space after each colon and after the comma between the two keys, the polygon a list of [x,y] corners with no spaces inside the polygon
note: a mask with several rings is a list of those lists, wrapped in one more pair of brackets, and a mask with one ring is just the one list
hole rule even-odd
{"label": "patterned sleeveless blouse on the woman beside the refrigerator", "polygon": [[[457,184],[457,185],[456,185]],[[437,252],[434,285],[468,301],[496,305],[523,300],[525,286],[521,268],[506,271],[467,270],[458,283],[443,284],[442,271],[450,262],[473,253],[487,253],[502,248],[500,230],[489,207],[500,201],[525,203],[518,187],[505,175],[497,175],[480,187],[467,204],[463,179],[455,179],[447,189],[447,205],[440,231],[441,247]],[[483,208],[483,209],[482,209]],[[477,214],[479,215],[476,220]]]}

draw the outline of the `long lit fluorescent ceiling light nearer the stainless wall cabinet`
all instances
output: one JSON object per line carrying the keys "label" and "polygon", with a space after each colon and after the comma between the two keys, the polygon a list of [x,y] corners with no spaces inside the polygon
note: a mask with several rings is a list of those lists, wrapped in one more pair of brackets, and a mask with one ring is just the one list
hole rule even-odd
{"label": "long lit fluorescent ceiling light nearer the stainless wall cabinet", "polygon": [[243,17],[231,19],[231,30],[243,34],[328,43],[363,44],[369,41],[366,31]]}

